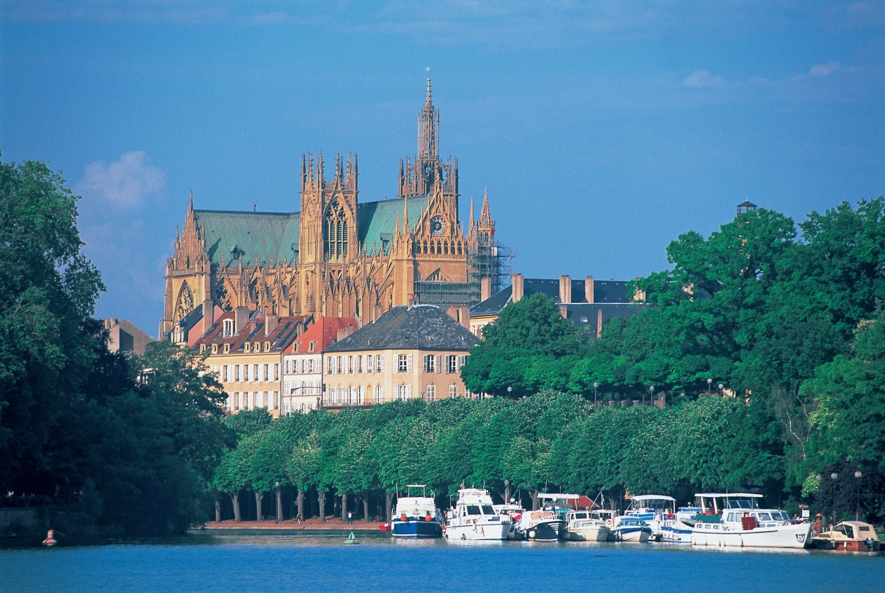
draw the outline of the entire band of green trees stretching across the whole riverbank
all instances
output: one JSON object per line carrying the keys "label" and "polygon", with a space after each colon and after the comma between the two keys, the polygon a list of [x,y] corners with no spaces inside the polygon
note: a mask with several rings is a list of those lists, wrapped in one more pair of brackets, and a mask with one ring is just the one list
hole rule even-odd
{"label": "entire band of green trees stretching across the whole riverbank", "polygon": [[194,351],[109,352],[79,198],[38,162],[0,163],[0,192],[0,501],[43,527],[369,519],[414,482],[440,504],[465,483],[527,506],[543,490],[758,489],[789,512],[883,520],[881,197],[680,235],[670,268],[634,282],[651,306],[598,336],[541,297],[509,305],[462,369],[495,397],[272,420],[224,417]]}

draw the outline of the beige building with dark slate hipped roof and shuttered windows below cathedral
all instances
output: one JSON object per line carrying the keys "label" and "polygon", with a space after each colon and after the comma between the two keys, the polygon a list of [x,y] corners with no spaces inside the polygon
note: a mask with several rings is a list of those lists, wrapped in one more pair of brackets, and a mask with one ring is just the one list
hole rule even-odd
{"label": "beige building with dark slate hipped roof and shuttered windows below cathedral", "polygon": [[478,342],[434,305],[394,307],[326,349],[321,403],[341,409],[465,397],[461,366]]}

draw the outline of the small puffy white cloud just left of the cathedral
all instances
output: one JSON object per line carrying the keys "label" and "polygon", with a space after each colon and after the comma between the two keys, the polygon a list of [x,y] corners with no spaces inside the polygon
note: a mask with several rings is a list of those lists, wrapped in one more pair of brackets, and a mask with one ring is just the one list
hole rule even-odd
{"label": "small puffy white cloud just left of the cathedral", "polygon": [[147,160],[147,153],[133,150],[120,155],[119,160],[110,165],[104,161],[90,163],[83,179],[74,186],[74,192],[119,208],[141,205],[165,189],[165,173],[148,165]]}

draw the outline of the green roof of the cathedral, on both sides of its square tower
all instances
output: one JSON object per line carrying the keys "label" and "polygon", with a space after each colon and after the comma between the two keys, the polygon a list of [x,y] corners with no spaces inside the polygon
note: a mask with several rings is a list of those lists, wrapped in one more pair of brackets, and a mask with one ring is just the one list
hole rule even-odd
{"label": "green roof of the cathedral, on both sides of its square tower", "polygon": [[[390,240],[396,231],[396,216],[403,218],[405,198],[357,204],[359,243],[363,250],[389,253]],[[427,208],[427,196],[408,198],[409,223],[414,230],[421,212]],[[224,258],[227,266],[236,259],[243,266],[273,266],[285,259],[297,261],[301,233],[300,212],[230,212],[195,210],[196,227],[205,231],[206,250],[215,265]]]}

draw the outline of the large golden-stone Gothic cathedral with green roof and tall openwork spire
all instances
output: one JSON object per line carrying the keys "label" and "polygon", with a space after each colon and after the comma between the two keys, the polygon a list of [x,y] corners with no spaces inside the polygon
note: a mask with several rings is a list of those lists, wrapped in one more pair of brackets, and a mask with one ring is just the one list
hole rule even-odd
{"label": "large golden-stone Gothic cathedral with green roof and tall openwork spire", "polygon": [[357,155],[335,155],[328,171],[322,153],[302,157],[299,212],[196,210],[191,195],[166,263],[161,337],[191,341],[193,320],[209,327],[240,307],[366,324],[396,305],[469,307],[501,288],[488,192],[479,219],[471,200],[465,232],[458,160],[440,159],[439,140],[428,78],[418,154],[400,161],[396,199],[360,203]]}

